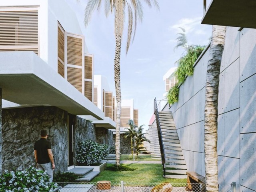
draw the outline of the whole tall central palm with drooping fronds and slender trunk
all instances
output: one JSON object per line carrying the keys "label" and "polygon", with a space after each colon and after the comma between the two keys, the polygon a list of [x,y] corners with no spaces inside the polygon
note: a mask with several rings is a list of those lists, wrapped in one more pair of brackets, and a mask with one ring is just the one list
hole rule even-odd
{"label": "whole tall central palm with drooping fronds and slender trunk", "polygon": [[[79,0],[78,0],[79,1]],[[102,4],[102,0],[89,0],[84,13],[84,25],[88,26],[92,12],[97,7],[98,10]],[[144,0],[144,2],[152,7],[153,5],[159,9],[158,0]],[[121,86],[120,86],[120,55],[121,42],[124,29],[125,11],[128,11],[128,37],[126,43],[126,54],[128,52],[130,42],[133,40],[136,32],[137,21],[142,21],[143,7],[140,0],[105,0],[105,14],[108,16],[110,11],[114,10],[114,27],[116,38],[116,50],[114,58],[114,80],[116,89],[116,165],[120,165],[120,115],[121,115]]]}

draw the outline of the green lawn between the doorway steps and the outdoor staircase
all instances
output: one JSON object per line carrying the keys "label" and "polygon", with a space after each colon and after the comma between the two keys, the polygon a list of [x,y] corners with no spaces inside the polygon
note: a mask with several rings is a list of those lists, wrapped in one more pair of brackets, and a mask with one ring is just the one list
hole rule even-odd
{"label": "green lawn between the doorway steps and the outdoor staircase", "polygon": [[[162,164],[125,164],[130,168],[136,168],[134,171],[102,171],[96,178],[90,182],[97,182],[102,180],[108,180],[112,183],[120,183],[124,181],[126,183],[184,183],[186,179],[168,179],[163,178]],[[111,164],[107,164],[111,166]]]}

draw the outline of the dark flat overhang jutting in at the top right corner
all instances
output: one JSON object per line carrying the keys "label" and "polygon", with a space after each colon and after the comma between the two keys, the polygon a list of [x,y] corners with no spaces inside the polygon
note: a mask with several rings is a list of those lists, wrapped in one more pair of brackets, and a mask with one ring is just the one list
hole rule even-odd
{"label": "dark flat overhang jutting in at the top right corner", "polygon": [[212,0],[206,9],[202,24],[256,28],[255,0]]}

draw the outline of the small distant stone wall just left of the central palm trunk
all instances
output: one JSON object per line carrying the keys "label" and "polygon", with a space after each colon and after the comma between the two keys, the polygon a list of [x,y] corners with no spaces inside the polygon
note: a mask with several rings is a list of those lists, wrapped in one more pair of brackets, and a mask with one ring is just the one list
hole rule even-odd
{"label": "small distant stone wall just left of the central palm trunk", "polygon": [[103,128],[96,128],[96,142],[99,144],[107,144],[108,146],[113,145],[113,132]]}

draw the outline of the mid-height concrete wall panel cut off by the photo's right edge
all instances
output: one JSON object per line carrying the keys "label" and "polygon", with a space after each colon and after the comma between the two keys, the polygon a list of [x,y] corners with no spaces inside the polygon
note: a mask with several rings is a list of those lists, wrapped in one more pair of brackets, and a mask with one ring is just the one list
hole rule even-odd
{"label": "mid-height concrete wall panel cut off by the photo's right edge", "polygon": [[240,83],[240,133],[256,132],[256,75]]}

